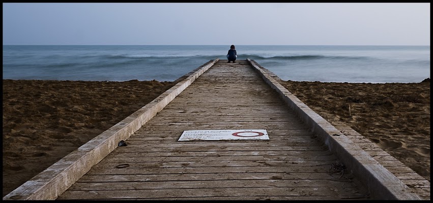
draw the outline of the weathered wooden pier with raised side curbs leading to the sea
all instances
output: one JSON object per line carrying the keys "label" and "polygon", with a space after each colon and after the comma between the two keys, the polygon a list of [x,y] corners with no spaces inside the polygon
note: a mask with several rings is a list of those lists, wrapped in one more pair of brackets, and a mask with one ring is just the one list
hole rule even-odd
{"label": "weathered wooden pier with raised side curbs leading to the sea", "polygon": [[[216,59],[181,79],[4,199],[421,199],[309,108],[293,108],[254,61]],[[184,130],[225,129],[270,139],[178,141]]]}

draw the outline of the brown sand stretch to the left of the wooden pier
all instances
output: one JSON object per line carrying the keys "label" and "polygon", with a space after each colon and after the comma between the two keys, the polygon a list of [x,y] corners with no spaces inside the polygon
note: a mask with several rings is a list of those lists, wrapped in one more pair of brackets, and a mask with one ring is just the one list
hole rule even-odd
{"label": "brown sand stretch to the left of the wooden pier", "polygon": [[3,196],[174,84],[3,80]]}

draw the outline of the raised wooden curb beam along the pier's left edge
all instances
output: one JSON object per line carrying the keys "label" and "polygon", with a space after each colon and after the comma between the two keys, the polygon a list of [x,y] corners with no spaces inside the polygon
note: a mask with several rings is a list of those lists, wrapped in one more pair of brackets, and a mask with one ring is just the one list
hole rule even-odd
{"label": "raised wooden curb beam along the pier's left edge", "polygon": [[84,174],[89,172],[92,166],[116,149],[121,140],[127,140],[131,134],[153,118],[218,60],[219,58],[216,58],[201,65],[189,77],[177,83],[149,104],[102,132],[77,150],[55,162],[31,180],[4,196],[3,200],[56,199]]}

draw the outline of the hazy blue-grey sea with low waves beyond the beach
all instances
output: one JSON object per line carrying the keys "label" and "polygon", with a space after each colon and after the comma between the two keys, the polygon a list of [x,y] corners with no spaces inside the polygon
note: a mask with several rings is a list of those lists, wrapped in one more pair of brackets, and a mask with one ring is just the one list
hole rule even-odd
{"label": "hazy blue-grey sea with low waves beyond the beach", "polygon": [[[227,46],[3,45],[3,79],[174,81]],[[430,46],[236,46],[283,80],[417,83],[430,78]]]}

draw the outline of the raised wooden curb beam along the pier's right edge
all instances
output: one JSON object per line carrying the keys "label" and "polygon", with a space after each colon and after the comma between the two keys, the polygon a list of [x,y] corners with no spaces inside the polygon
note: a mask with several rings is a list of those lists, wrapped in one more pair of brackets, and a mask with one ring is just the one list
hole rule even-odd
{"label": "raised wooden curb beam along the pier's right edge", "polygon": [[409,187],[382,164],[371,158],[322,116],[270,77],[255,61],[249,58],[247,60],[266,83],[275,89],[285,103],[298,114],[299,118],[324,141],[329,150],[351,168],[352,173],[359,177],[373,199],[421,200],[419,195],[410,192]]}

